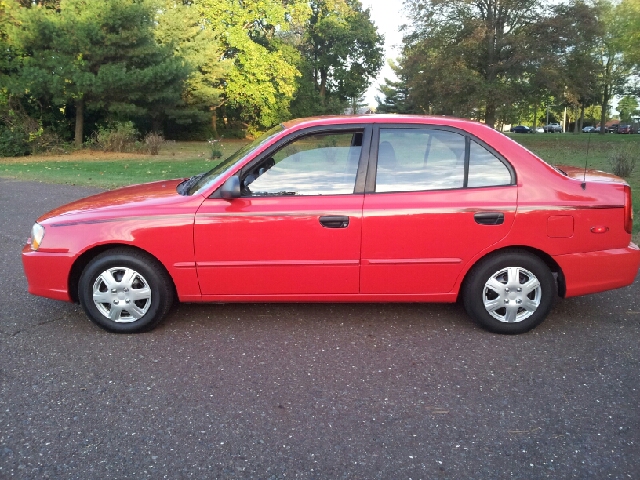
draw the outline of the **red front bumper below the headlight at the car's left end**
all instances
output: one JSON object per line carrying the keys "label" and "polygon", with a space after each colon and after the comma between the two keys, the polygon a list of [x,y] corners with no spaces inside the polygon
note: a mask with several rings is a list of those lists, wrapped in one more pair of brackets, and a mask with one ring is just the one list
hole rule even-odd
{"label": "red front bumper below the headlight at the car's left end", "polygon": [[69,253],[34,252],[26,245],[22,249],[22,266],[29,293],[70,302],[69,272],[74,259]]}

